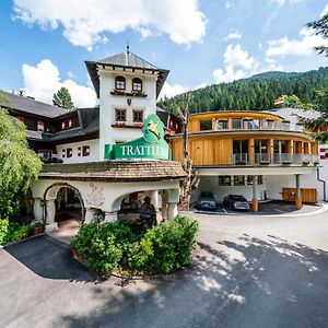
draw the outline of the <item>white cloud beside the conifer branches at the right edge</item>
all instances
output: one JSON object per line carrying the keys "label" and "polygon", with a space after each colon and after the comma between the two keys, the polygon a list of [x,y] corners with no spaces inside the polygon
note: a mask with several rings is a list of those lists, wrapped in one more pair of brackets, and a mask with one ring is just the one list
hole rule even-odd
{"label": "white cloud beside the conifer branches at the right edge", "polygon": [[314,51],[315,46],[328,46],[328,40],[316,35],[314,30],[302,28],[298,39],[290,39],[284,36],[280,39],[269,40],[269,48],[266,51],[267,57],[284,57],[288,55],[308,56]]}

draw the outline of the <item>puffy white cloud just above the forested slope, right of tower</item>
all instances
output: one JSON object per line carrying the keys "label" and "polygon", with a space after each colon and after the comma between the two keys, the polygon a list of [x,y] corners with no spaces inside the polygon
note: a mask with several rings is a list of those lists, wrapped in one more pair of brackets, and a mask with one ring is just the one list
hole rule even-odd
{"label": "puffy white cloud just above the forested slope, right of tower", "polygon": [[213,71],[213,79],[216,83],[231,82],[254,73],[256,70],[256,61],[241,45],[229,45],[223,55],[224,70],[216,69]]}

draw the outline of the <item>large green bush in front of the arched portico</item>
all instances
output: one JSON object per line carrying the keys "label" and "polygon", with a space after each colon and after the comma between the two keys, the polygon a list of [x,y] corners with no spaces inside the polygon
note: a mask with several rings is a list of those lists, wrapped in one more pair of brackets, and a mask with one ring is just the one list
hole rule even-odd
{"label": "large green bush in front of the arched portico", "polygon": [[198,232],[197,221],[177,216],[149,230],[133,231],[132,223],[83,224],[71,243],[72,248],[99,273],[114,269],[134,273],[171,273],[191,262]]}

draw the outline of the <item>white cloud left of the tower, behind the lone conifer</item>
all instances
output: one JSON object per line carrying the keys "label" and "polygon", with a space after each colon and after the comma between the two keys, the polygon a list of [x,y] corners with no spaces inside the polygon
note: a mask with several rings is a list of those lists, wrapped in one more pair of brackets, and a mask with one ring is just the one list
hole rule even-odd
{"label": "white cloud left of the tower, behind the lone conifer", "polygon": [[49,59],[42,60],[35,67],[24,63],[22,73],[26,94],[37,101],[51,104],[54,93],[65,86],[75,106],[89,107],[96,104],[96,95],[92,87],[78,84],[71,79],[61,81],[58,68]]}

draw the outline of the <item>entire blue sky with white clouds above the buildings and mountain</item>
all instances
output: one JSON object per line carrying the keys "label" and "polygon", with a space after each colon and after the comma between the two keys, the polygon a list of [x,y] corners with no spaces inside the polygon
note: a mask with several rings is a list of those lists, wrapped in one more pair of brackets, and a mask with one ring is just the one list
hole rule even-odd
{"label": "entire blue sky with white clouds above the buildings and mountain", "polygon": [[[121,3],[124,2],[124,3]],[[164,93],[229,82],[268,70],[328,66],[327,43],[304,28],[321,0],[2,0],[0,89],[39,101],[67,86],[79,106],[96,99],[84,60],[126,48],[171,70]]]}

